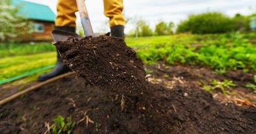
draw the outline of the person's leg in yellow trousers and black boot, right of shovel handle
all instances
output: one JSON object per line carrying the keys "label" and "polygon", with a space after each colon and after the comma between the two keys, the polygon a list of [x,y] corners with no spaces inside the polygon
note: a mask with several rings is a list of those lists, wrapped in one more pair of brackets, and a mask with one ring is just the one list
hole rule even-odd
{"label": "person's leg in yellow trousers and black boot, right of shovel handle", "polygon": [[104,0],[104,14],[110,18],[111,36],[124,38],[123,0]]}

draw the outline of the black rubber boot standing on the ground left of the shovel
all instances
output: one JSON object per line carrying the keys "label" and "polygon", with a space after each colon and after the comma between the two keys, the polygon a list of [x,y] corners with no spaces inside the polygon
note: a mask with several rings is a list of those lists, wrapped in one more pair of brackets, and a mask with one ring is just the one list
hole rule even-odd
{"label": "black rubber boot standing on the ground left of the shovel", "polygon": [[[68,26],[57,27],[56,26],[55,29],[75,33],[75,27],[68,27]],[[37,78],[37,81],[43,82],[45,80],[53,78],[54,76],[62,75],[64,73],[71,71],[71,69],[65,63],[62,62],[62,59],[60,58],[60,54],[58,53],[58,50],[56,52],[57,52],[57,63],[55,65],[53,71],[51,71],[49,73],[45,73],[43,75],[40,75]]]}

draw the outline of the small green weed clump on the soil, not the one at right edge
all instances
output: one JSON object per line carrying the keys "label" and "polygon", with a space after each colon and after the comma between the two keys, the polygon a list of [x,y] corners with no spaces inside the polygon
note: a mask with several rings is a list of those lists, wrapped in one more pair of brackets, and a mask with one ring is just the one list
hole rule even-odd
{"label": "small green weed clump on the soil, not the one at right edge", "polygon": [[212,80],[210,85],[203,86],[203,90],[213,92],[216,89],[220,89],[224,93],[224,95],[226,95],[228,93],[226,89],[230,88],[231,86],[236,86],[236,84],[234,84],[232,80],[224,80],[223,82],[220,82],[218,80]]}

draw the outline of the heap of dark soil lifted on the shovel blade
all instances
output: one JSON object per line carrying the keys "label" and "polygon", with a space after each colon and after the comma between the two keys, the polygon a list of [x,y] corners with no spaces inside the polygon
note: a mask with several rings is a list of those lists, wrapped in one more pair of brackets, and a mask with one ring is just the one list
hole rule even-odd
{"label": "heap of dark soil lifted on the shovel blade", "polygon": [[122,39],[102,35],[57,42],[64,63],[89,84],[125,95],[142,94],[145,71]]}

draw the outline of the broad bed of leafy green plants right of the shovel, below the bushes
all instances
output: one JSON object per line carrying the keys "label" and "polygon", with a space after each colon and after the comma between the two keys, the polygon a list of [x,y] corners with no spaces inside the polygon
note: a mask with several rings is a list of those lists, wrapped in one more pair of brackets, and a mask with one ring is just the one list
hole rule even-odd
{"label": "broad bed of leafy green plants right of the shovel, below the bushes", "polygon": [[230,69],[256,71],[256,47],[241,33],[156,38],[158,41],[146,38],[128,43],[138,49],[137,56],[148,64],[164,61],[169,65],[206,65],[220,73]]}

